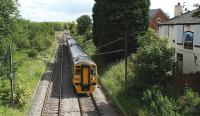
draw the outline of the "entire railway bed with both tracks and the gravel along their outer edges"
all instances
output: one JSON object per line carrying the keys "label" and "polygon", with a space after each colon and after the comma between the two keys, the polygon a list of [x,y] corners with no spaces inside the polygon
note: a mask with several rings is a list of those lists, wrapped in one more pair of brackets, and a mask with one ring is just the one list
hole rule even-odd
{"label": "entire railway bed with both tracks and the gravel along their outer edges", "polygon": [[[78,95],[72,84],[67,47],[59,43],[54,63],[41,78],[30,109],[30,116],[117,116],[102,92]],[[48,84],[47,84],[48,81]],[[42,93],[43,92],[43,93]],[[97,93],[97,95],[95,95]]]}

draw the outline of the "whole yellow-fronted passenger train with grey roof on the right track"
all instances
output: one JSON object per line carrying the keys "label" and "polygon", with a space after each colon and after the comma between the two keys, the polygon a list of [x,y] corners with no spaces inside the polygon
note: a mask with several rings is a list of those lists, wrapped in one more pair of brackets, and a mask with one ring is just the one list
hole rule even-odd
{"label": "whole yellow-fronted passenger train with grey roof on the right track", "polygon": [[97,65],[87,56],[80,45],[67,38],[67,47],[71,56],[72,83],[78,94],[92,93],[97,85]]}

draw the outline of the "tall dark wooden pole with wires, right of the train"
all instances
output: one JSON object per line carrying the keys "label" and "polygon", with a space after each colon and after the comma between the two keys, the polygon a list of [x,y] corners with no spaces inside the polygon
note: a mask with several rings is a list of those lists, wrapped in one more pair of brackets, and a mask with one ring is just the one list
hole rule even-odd
{"label": "tall dark wooden pole with wires, right of the train", "polygon": [[127,37],[126,37],[126,31],[124,34],[124,44],[125,44],[125,91],[127,91]]}

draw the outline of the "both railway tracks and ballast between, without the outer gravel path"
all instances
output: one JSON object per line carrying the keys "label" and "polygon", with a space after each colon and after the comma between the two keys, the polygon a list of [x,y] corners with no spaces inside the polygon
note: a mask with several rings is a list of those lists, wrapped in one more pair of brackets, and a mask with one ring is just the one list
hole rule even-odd
{"label": "both railway tracks and ballast between, without the outer gravel path", "polygon": [[58,48],[52,69],[41,116],[105,115],[99,107],[99,102],[96,103],[93,94],[76,94],[71,83],[71,67],[67,48],[62,44]]}

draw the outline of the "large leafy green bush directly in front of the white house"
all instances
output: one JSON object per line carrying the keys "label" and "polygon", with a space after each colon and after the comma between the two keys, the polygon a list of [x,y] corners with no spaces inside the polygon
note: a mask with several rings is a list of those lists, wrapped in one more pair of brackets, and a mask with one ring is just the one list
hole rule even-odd
{"label": "large leafy green bush directly in front of the white house", "polygon": [[175,66],[175,50],[169,47],[165,38],[159,38],[151,30],[139,38],[140,48],[134,58],[135,77],[133,78],[137,93],[161,84],[169,89],[170,74]]}

